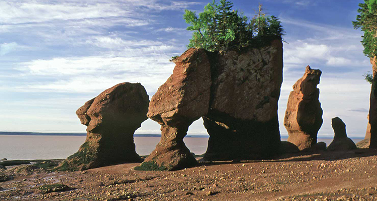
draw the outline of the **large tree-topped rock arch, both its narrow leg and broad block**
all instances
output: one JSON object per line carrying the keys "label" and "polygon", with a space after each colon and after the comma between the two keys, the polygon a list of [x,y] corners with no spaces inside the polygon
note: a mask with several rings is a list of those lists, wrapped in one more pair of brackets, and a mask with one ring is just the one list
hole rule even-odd
{"label": "large tree-topped rock arch, both its narrow leg and broad block", "polygon": [[191,48],[174,62],[173,74],[149,105],[148,117],[161,125],[161,141],[135,169],[175,170],[197,164],[183,137],[201,117],[210,134],[206,160],[261,158],[277,152],[279,40],[242,53]]}

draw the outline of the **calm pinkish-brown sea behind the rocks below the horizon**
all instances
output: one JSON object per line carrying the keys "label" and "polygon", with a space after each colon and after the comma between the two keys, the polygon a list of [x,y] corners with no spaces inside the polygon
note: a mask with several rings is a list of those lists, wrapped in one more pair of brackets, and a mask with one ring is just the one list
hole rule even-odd
{"label": "calm pinkish-brown sea behind the rocks below the horizon", "polygon": [[[287,138],[282,137],[286,141]],[[358,142],[361,138],[353,139]],[[85,136],[28,136],[28,135],[0,135],[0,159],[54,159],[66,158],[75,153],[85,141]],[[136,152],[148,155],[160,141],[159,137],[135,137]],[[207,150],[208,138],[186,137],[186,146],[195,154],[203,154]],[[319,138],[329,145],[330,138]]]}

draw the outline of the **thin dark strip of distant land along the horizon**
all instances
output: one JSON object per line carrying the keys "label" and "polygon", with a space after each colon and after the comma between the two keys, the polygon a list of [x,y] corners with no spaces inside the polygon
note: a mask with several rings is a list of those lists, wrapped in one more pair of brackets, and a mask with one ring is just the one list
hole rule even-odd
{"label": "thin dark strip of distant land along the horizon", "polygon": [[[86,136],[86,133],[37,133],[37,132],[0,132],[0,135],[27,136]],[[134,137],[161,137],[161,134],[134,134]],[[209,138],[208,135],[186,135],[189,138]]]}

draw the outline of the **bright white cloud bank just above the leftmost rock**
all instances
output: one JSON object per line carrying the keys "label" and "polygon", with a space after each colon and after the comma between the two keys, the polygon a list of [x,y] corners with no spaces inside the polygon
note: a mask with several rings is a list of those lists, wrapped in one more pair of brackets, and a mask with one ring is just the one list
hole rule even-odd
{"label": "bright white cloud bank just above the leftmost rock", "polygon": [[[150,48],[150,47],[148,47]],[[103,91],[121,82],[140,82],[149,94],[164,83],[174,64],[170,55],[138,57],[72,57],[33,60],[19,68],[24,77],[49,77],[36,83],[20,83],[17,91],[93,92]]]}

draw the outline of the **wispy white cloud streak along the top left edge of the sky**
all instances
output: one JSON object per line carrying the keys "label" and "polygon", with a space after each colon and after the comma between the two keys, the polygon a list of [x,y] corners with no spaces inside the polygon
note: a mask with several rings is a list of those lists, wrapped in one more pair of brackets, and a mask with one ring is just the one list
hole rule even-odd
{"label": "wispy white cloud streak along the top left edge of the sky", "polygon": [[197,2],[171,2],[161,4],[158,1],[6,1],[0,2],[0,18],[3,24],[42,23],[59,20],[85,20],[111,17],[140,17],[149,11],[182,10]]}

